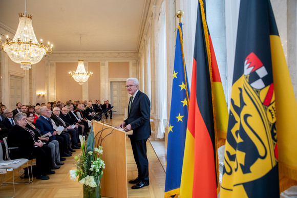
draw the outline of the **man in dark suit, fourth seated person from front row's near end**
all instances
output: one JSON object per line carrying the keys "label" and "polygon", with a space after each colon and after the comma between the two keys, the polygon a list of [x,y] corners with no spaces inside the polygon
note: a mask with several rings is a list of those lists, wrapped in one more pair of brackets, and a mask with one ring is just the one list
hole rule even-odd
{"label": "man in dark suit, fourth seated person from front row's near end", "polygon": [[[68,142],[68,149],[72,152],[74,150],[72,148],[78,149],[78,128],[72,128],[70,125],[66,125],[66,123],[59,117],[60,115],[60,108],[54,107],[53,109],[53,115],[51,116],[51,119],[55,122],[57,126],[63,126],[66,128],[66,133],[71,136],[71,142]],[[72,143],[72,146],[70,145]]]}

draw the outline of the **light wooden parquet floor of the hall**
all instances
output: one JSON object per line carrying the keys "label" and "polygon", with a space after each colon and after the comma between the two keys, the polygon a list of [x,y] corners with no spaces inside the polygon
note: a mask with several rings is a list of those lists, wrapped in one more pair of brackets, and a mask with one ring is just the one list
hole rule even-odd
{"label": "light wooden parquet floor of the hall", "polygon": [[[114,115],[113,119],[107,119],[106,122],[118,126],[119,123],[122,122],[122,118],[123,116]],[[128,138],[126,139],[126,143],[127,174],[128,180],[131,180],[137,177],[138,172]],[[55,174],[49,175],[50,180],[41,181],[34,178],[33,182],[29,185],[16,184],[16,197],[83,197],[82,185],[79,184],[77,180],[70,180],[69,176],[69,170],[74,169],[74,156],[78,156],[79,154],[80,150],[77,149],[72,157],[68,157],[67,160],[64,161],[65,165],[55,170]],[[128,184],[129,197],[164,197],[165,171],[150,141],[147,141],[147,157],[149,159],[150,185],[142,189],[131,189],[132,184]],[[17,170],[14,173],[16,181],[25,180],[19,178],[20,174],[18,174]],[[12,181],[12,172],[6,175],[5,181]],[[13,186],[0,186],[0,197],[9,196],[13,196]]]}

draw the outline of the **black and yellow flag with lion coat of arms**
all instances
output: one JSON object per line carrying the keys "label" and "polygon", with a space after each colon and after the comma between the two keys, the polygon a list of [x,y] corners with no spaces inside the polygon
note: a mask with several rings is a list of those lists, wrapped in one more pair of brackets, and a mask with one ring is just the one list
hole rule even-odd
{"label": "black and yellow flag with lion coat of arms", "polygon": [[279,165],[294,183],[296,115],[270,1],[241,0],[221,197],[279,197]]}

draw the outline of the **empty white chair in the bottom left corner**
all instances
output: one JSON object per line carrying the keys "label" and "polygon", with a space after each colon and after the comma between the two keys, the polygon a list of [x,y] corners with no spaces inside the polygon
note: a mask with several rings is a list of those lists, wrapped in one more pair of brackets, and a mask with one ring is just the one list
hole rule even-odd
{"label": "empty white chair in the bottom left corner", "polygon": [[[12,164],[12,162],[18,161],[18,160],[19,160],[19,162],[15,163],[15,164]],[[14,169],[17,169],[20,166],[27,163],[27,169],[28,169],[28,172],[29,172],[28,161],[29,161],[28,159],[23,159],[23,158],[15,159],[15,160],[8,160],[8,161],[3,160],[3,149],[2,149],[2,146],[0,145],[0,174],[4,174],[2,176],[1,185],[13,184],[13,197],[15,197],[14,183],[22,183],[22,184],[24,184],[24,183],[25,184],[30,184],[31,183],[30,182],[30,174],[29,174],[29,182],[14,182]],[[7,163],[9,163],[9,164],[7,164]],[[3,164],[7,164],[7,165],[3,165]],[[7,169],[12,169],[12,182],[4,182],[4,178],[5,178],[5,174],[7,172]]]}

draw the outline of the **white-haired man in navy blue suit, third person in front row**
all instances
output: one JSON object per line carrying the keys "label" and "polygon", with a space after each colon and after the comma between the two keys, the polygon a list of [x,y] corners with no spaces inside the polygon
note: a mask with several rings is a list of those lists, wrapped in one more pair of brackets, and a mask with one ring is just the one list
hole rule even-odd
{"label": "white-haired man in navy blue suit, third person in front row", "polygon": [[[40,130],[42,135],[51,133],[50,141],[57,140],[59,142],[60,157],[70,157],[69,151],[67,150],[67,139],[61,136],[57,136],[58,131],[53,128],[51,120],[48,118],[51,116],[51,111],[46,106],[40,107],[40,117],[36,120],[35,124]],[[66,144],[66,148],[65,148]],[[67,152],[68,151],[68,152]]]}

